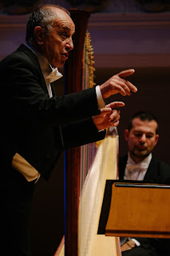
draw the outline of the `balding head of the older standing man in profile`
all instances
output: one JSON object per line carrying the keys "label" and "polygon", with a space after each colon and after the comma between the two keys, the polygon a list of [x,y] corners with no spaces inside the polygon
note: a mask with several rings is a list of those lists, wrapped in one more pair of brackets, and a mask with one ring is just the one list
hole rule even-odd
{"label": "balding head of the older standing man in profile", "polygon": [[26,42],[47,58],[54,68],[63,66],[73,50],[75,32],[69,12],[60,6],[42,6],[30,15]]}

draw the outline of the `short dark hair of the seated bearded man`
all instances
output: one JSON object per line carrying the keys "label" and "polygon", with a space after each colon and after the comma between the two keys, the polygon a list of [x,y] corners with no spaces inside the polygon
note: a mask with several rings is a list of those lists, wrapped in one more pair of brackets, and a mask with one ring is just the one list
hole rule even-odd
{"label": "short dark hair of the seated bearded man", "polygon": [[148,122],[151,122],[152,120],[154,120],[157,123],[156,134],[158,134],[159,127],[158,127],[158,120],[157,120],[156,116],[154,114],[152,114],[148,111],[144,111],[144,110],[138,111],[132,115],[132,118],[128,122],[128,131],[130,131],[132,129],[132,121],[135,118],[140,118],[141,121],[148,121]]}

